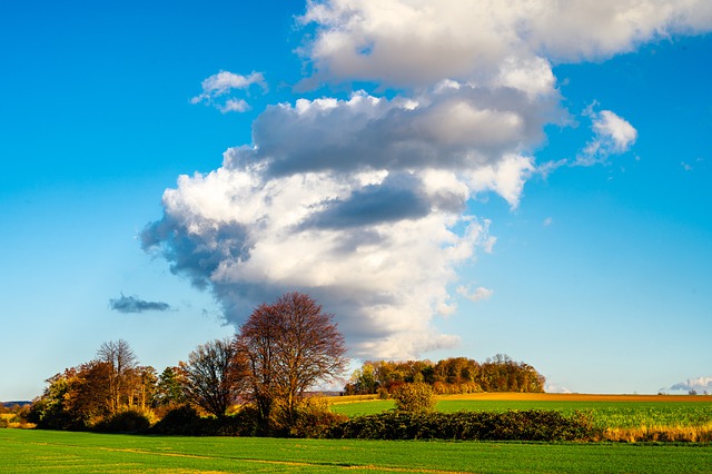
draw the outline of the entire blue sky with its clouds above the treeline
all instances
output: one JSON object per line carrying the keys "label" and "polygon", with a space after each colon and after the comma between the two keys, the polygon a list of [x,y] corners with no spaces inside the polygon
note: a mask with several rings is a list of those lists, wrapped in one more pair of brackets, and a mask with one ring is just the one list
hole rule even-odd
{"label": "entire blue sky with its clouds above the treeline", "polygon": [[0,399],[291,289],[355,357],[712,388],[710,7],[372,3],[0,7]]}

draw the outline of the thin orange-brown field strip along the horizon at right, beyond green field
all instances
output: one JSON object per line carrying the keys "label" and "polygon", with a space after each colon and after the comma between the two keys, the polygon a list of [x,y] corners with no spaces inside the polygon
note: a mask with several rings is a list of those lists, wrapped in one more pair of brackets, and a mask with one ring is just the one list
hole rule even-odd
{"label": "thin orange-brown field strip along the horizon at right, beyond green field", "polygon": [[712,403],[712,395],[610,395],[610,394],[535,394],[535,393],[482,393],[442,395],[441,399],[482,401],[546,401],[546,402],[700,402]]}

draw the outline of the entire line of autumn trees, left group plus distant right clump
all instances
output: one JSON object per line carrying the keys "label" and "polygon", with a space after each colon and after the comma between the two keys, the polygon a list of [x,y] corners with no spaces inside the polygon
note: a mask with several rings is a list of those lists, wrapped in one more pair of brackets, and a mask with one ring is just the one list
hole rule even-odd
{"label": "entire line of autumn trees, left group plus distant right clump", "polygon": [[[336,415],[326,404],[308,399],[308,391],[324,382],[344,383],[347,366],[334,315],[308,295],[288,293],[255,308],[234,337],[202,344],[160,374],[140,365],[126,340],[106,342],[93,359],[50,377],[28,419],[53,429],[111,423],[146,427],[159,419],[185,425],[197,419],[197,408],[227,426],[237,423],[229,416],[237,406],[238,417],[254,425],[247,433],[310,429],[334,422]],[[438,363],[378,361],[356,369],[344,393],[397,398],[406,393],[398,388],[409,385],[427,386],[436,394],[543,392],[544,377],[503,355],[482,364],[465,357]]]}

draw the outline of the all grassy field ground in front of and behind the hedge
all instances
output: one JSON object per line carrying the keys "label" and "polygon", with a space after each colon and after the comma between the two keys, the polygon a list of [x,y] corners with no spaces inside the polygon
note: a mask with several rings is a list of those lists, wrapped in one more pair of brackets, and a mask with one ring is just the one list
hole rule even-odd
{"label": "all grassy field ground in front of and behind the hedge", "polygon": [[[357,415],[393,407],[375,397],[329,398]],[[448,395],[443,412],[586,411],[606,426],[601,443],[287,440],[107,435],[0,429],[8,473],[710,473],[712,443],[620,443],[641,433],[712,433],[710,396]],[[607,440],[607,441],[606,441]],[[652,438],[647,441],[653,441]],[[662,441],[662,440],[659,440]],[[674,440],[668,440],[674,441]]]}

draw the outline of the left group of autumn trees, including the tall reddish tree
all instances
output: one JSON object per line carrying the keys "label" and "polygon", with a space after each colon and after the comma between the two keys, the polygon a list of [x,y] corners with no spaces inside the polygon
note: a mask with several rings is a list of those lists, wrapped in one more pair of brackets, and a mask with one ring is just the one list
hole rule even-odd
{"label": "left group of autumn trees, including the tall reddish tree", "polygon": [[42,428],[130,432],[160,415],[186,418],[189,404],[229,431],[230,409],[251,404],[241,418],[259,433],[306,427],[326,409],[305,402],[307,391],[347,366],[333,319],[308,295],[289,293],[256,308],[235,337],[198,346],[160,375],[140,366],[126,340],[107,342],[95,359],[50,377],[29,418]]}

